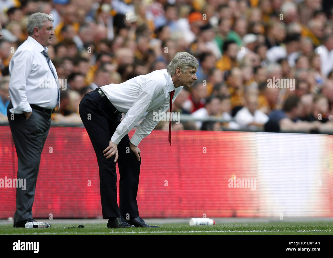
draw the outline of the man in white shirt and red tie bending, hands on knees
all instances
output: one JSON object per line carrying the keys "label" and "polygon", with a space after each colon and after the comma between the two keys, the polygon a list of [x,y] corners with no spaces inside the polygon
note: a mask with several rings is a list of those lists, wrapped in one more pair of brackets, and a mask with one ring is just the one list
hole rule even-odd
{"label": "man in white shirt and red tie bending, hands on knees", "polygon": [[[164,114],[183,86],[189,88],[197,79],[195,73],[198,67],[195,57],[187,52],[178,52],[167,69],[140,75],[121,84],[102,86],[87,93],[81,100],[79,112],[96,152],[102,213],[104,219],[109,219],[108,228],[158,227],[147,225],[139,217],[136,198],[141,151],[138,144],[159,122],[154,119],[154,113],[160,110]],[[130,140],[128,133],[146,112]],[[122,113],[126,115],[120,121]],[[119,206],[117,161],[120,173]]]}

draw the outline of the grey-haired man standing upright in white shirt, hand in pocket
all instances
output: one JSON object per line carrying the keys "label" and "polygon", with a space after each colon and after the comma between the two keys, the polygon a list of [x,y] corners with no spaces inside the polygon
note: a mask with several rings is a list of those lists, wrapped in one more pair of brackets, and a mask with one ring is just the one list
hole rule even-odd
{"label": "grey-haired man standing upright in white shirt, hand in pocket", "polygon": [[26,179],[26,190],[16,190],[14,227],[35,221],[32,205],[41,153],[51,114],[60,105],[58,75],[46,47],[54,35],[50,18],[46,13],[30,15],[28,39],[17,48],[9,64],[11,101],[7,116],[18,157],[17,178]]}

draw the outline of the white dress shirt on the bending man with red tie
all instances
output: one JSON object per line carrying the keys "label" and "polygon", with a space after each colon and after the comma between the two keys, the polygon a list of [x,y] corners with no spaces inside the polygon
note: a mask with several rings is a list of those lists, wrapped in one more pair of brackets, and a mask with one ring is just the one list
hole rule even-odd
{"label": "white dress shirt on the bending man with red tie", "polygon": [[154,113],[158,114],[159,110],[161,113],[166,112],[169,108],[170,92],[175,90],[173,102],[182,88],[174,88],[172,78],[166,69],[140,75],[120,84],[112,83],[102,86],[101,89],[112,105],[118,111],[126,113],[111,137],[112,142],[118,144],[139,122],[145,112],[148,112],[131,138],[131,142],[138,146],[140,141],[149,135],[159,122],[154,121]]}

